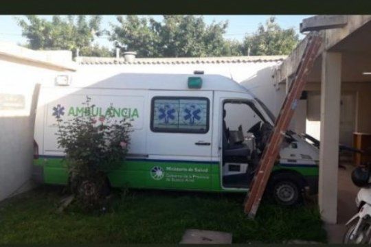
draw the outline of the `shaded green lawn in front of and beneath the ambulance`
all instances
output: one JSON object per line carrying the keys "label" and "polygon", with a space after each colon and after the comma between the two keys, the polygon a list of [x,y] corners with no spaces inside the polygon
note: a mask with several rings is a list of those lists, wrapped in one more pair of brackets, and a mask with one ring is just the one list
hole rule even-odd
{"label": "shaded green lawn in front of and beneath the ambulance", "polygon": [[263,202],[256,220],[243,213],[244,194],[131,190],[113,198],[107,213],[74,204],[56,214],[52,187],[0,206],[0,244],[178,244],[187,229],[232,233],[234,244],[289,239],[326,242],[317,205],[278,207]]}

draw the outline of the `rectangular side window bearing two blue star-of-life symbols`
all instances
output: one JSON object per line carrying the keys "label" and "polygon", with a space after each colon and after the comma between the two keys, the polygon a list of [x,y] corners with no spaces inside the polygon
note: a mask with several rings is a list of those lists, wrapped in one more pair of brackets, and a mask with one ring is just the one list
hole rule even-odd
{"label": "rectangular side window bearing two blue star-of-life symbols", "polygon": [[205,97],[154,97],[150,129],[153,132],[206,133],[209,99]]}

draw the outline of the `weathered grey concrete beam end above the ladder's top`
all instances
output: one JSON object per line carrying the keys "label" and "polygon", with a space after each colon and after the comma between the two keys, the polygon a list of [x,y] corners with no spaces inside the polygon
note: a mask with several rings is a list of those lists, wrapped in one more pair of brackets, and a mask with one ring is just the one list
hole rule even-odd
{"label": "weathered grey concrete beam end above the ladder's top", "polygon": [[346,15],[317,15],[304,19],[300,23],[300,32],[311,32],[329,28],[344,27],[348,23]]}

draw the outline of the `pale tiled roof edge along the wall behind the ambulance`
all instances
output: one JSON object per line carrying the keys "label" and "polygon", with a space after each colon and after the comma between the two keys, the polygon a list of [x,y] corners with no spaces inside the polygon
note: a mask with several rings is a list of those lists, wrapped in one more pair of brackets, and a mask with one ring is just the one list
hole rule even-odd
{"label": "pale tiled roof edge along the wall behind the ambulance", "polygon": [[79,57],[78,64],[224,64],[247,62],[280,62],[287,56],[233,56],[208,58],[135,58],[127,62],[124,58]]}

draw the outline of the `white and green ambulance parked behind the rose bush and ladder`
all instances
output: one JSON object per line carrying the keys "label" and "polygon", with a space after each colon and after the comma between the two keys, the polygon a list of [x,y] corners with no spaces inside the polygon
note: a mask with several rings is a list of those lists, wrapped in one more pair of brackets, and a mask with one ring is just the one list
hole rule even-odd
{"label": "white and green ambulance parked behind the rose bush and ladder", "polygon": [[[117,120],[131,119],[129,152],[107,174],[111,187],[246,193],[275,117],[245,87],[222,75],[120,73],[58,75],[43,84],[34,130],[34,177],[66,185],[57,119],[86,114],[91,98],[97,119],[113,106]],[[317,193],[318,148],[287,131],[269,178],[280,204]]]}

